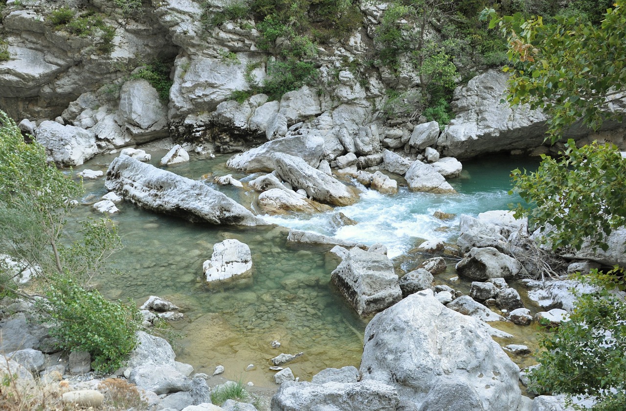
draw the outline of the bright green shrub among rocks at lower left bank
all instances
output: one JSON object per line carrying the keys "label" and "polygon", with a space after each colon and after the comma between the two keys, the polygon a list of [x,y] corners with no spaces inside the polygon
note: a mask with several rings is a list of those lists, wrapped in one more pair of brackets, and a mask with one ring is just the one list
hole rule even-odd
{"label": "bright green shrub among rocks at lower left bank", "polygon": [[66,350],[89,351],[93,368],[110,373],[120,368],[136,346],[140,315],[133,306],[108,301],[87,291],[71,276],[56,276],[46,292],[49,333]]}

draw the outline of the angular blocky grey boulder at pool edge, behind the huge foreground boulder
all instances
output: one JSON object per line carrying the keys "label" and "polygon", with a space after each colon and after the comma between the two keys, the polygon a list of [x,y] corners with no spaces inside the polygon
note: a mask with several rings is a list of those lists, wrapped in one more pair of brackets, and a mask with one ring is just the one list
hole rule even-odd
{"label": "angular blocky grey boulder at pool edge, behind the huge foreground boulder", "polygon": [[331,279],[359,315],[377,313],[402,298],[393,264],[376,252],[352,248]]}

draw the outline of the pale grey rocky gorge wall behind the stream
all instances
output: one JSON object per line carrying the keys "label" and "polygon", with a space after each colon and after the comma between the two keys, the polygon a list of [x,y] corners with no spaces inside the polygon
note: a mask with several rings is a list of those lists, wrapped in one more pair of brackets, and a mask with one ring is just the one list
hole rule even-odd
{"label": "pale grey rocky gorge wall behind the stream", "polygon": [[[354,68],[372,58],[377,47],[372,38],[389,7],[385,2],[359,2],[361,28],[344,41],[317,46],[314,84],[279,100],[262,93],[233,100],[233,93],[267,78],[274,57],[259,49],[258,23],[252,19],[212,27],[203,23],[207,10],[220,13],[229,4],[151,1],[125,15],[100,0],[67,3],[78,10],[76,18],[95,27],[77,31],[52,23],[51,10],[60,3],[9,0],[0,24],[9,53],[9,60],[0,61],[0,109],[18,122],[31,120],[23,127],[28,132],[44,120],[83,128],[95,152],[167,135],[204,152],[235,152],[294,134],[322,137],[329,161],[382,148],[415,158],[426,147],[464,159],[502,150],[525,152],[543,143],[543,113],[500,103],[506,75],[484,66],[475,70],[482,74],[458,84],[452,103],[456,117],[442,132],[422,126],[423,117],[386,118],[382,108],[388,90],[418,92],[421,84],[406,65],[395,74],[376,64]],[[280,41],[288,40],[277,39],[277,49]],[[172,64],[167,101],[133,75],[156,60]],[[608,138],[623,147],[623,128],[608,128],[589,138]],[[578,138],[589,134],[573,133]]]}

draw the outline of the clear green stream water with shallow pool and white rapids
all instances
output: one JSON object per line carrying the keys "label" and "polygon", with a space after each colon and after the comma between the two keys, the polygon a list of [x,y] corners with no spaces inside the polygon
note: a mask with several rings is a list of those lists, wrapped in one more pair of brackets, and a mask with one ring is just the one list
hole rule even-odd
{"label": "clear green stream water with shallow pool and white rapids", "polygon": [[[150,153],[152,163],[157,164],[165,152]],[[76,170],[106,172],[112,158],[98,157]],[[224,167],[226,159],[192,161],[168,170],[205,180],[212,174],[230,173]],[[454,195],[411,193],[406,188],[396,195],[367,191],[359,203],[336,209],[358,222],[337,232],[329,224],[332,213],[268,219],[280,226],[335,234],[366,244],[382,242],[389,247],[390,256],[398,256],[423,239],[453,241],[462,213],[506,209],[508,203],[518,201],[518,197],[506,194],[510,188],[508,174],[510,169],[533,167],[533,163],[510,158],[466,162],[463,175],[451,180],[459,192]],[[233,175],[250,179],[244,174]],[[85,182],[86,205],[79,207],[77,217],[98,217],[90,204],[106,193],[103,185],[103,179]],[[213,187],[247,207],[255,199],[250,190]],[[282,227],[198,225],[145,212],[125,202],[118,207],[121,212],[111,218],[118,225],[125,248],[113,256],[113,265],[126,274],[103,274],[99,288],[109,298],[143,303],[148,296],[158,295],[180,306],[187,318],[172,323],[183,336],[178,341],[178,361],[209,375],[222,364],[226,378],[252,381],[262,387],[274,387],[274,372],[267,368],[269,359],[281,352],[304,352],[287,365],[303,380],[310,380],[326,367],[358,367],[367,319],[355,315],[330,283],[338,261],[327,255],[329,247],[289,247],[285,242],[287,229]],[[438,210],[456,217],[441,221],[432,216]],[[250,246],[255,269],[252,284],[208,287],[203,281],[202,263],[210,258],[213,244],[227,238]],[[282,343],[279,349],[271,347],[274,340]],[[528,338],[519,340],[521,343]],[[249,364],[256,368],[246,372]]]}

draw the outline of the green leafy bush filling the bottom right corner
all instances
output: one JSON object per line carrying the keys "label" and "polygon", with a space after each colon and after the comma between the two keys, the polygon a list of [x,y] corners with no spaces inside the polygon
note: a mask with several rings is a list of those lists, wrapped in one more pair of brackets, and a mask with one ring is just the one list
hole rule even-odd
{"label": "green leafy bush filling the bottom right corner", "polygon": [[[595,397],[594,411],[626,409],[626,301],[611,274],[594,271],[578,279],[596,287],[578,295],[570,321],[540,341],[541,367],[530,374],[530,390]],[[613,289],[607,289],[610,284]]]}

